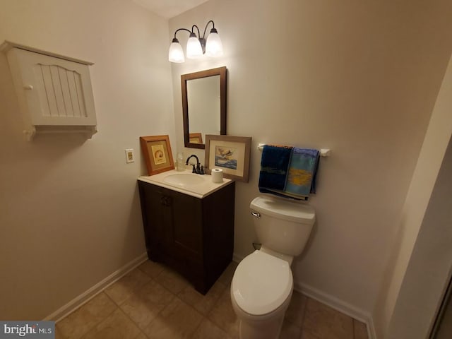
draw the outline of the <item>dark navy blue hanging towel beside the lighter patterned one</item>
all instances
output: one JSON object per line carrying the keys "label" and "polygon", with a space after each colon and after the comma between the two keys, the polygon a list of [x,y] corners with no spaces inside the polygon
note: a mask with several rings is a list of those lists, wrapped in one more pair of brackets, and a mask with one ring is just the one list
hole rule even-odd
{"label": "dark navy blue hanging towel beside the lighter patterned one", "polygon": [[259,191],[273,193],[270,190],[284,190],[292,149],[292,146],[263,146]]}

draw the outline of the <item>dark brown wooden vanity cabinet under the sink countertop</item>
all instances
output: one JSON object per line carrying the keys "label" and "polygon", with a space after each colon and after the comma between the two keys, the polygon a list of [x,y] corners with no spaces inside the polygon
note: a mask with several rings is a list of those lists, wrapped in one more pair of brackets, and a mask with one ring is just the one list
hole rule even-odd
{"label": "dark brown wooden vanity cabinet under the sink countertop", "polygon": [[235,183],[197,198],[138,180],[148,257],[205,295],[232,261]]}

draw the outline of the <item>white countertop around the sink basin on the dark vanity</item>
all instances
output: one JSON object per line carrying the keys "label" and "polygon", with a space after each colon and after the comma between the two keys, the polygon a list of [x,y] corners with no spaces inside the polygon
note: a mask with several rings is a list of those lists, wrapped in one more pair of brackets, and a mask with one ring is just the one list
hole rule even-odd
{"label": "white countertop around the sink basin on the dark vanity", "polygon": [[212,177],[208,174],[192,174],[196,175],[200,179],[203,179],[201,184],[186,184],[186,185],[179,185],[179,184],[171,184],[168,182],[165,182],[165,177],[168,177],[172,174],[192,174],[191,169],[186,169],[185,171],[178,172],[175,169],[172,169],[167,172],[162,172],[159,174],[154,174],[151,176],[141,176],[138,177],[138,180],[141,180],[141,182],[148,182],[150,184],[155,184],[157,186],[165,187],[165,189],[172,189],[173,191],[177,191],[183,194],[188,194],[189,196],[194,196],[196,198],[204,198],[205,196],[208,196],[209,194],[212,194],[215,191],[218,191],[218,189],[221,189],[224,186],[227,186],[228,184],[232,183],[231,179],[225,179],[223,178],[223,182],[217,184],[212,182]]}

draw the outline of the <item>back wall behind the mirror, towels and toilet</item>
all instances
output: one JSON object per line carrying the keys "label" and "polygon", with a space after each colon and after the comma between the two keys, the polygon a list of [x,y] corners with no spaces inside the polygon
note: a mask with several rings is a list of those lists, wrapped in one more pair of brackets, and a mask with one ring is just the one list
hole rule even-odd
{"label": "back wall behind the mirror, towels and toilet", "polygon": [[211,0],[169,20],[173,34],[213,19],[225,50],[172,65],[178,148],[180,74],[218,66],[228,69],[227,133],[253,138],[250,180],[236,189],[237,257],[256,240],[248,206],[258,194],[257,143],[331,148],[295,284],[351,314],[374,311],[451,55],[451,11],[450,1]]}

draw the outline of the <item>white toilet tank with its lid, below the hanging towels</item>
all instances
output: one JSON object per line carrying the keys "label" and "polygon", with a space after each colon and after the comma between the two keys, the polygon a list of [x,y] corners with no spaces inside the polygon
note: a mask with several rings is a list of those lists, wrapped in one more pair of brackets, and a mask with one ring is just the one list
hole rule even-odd
{"label": "white toilet tank with its lid, below the hanging towels", "polygon": [[316,220],[314,208],[272,196],[258,196],[249,207],[263,246],[289,256],[302,253]]}

